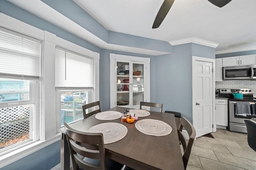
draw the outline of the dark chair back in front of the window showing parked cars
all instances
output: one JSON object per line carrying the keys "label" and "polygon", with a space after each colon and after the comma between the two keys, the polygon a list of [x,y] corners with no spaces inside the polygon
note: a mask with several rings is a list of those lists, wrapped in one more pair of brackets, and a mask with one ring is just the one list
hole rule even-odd
{"label": "dark chair back in front of the window showing parked cars", "polygon": [[101,112],[100,101],[85,104],[82,106],[82,109],[83,109],[84,119],[86,119],[91,115]]}

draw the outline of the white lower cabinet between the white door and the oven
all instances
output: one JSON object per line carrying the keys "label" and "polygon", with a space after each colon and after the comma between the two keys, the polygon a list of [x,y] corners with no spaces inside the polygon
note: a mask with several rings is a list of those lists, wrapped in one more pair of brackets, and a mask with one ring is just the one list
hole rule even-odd
{"label": "white lower cabinet between the white door and the oven", "polygon": [[228,126],[228,100],[215,100],[215,120],[217,127],[226,129]]}

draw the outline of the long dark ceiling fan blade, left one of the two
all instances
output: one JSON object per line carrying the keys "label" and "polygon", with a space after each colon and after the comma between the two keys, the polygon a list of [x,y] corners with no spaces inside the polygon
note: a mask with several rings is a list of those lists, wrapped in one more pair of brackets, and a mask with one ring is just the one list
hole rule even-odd
{"label": "long dark ceiling fan blade, left one of the two", "polygon": [[152,28],[158,28],[161,25],[162,21],[164,20],[170,8],[172,7],[173,2],[174,0],[164,0],[162,6],[160,7],[156,15],[156,19],[153,23]]}

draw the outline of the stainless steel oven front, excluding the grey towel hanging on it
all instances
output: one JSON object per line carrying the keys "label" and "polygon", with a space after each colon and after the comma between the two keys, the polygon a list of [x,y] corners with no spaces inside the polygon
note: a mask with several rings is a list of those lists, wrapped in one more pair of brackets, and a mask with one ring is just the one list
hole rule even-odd
{"label": "stainless steel oven front, excluding the grey towel hanging on it", "polygon": [[254,109],[256,102],[248,102],[250,104],[250,113],[236,113],[236,104],[241,101],[229,101],[229,130],[247,133],[244,120],[256,117]]}

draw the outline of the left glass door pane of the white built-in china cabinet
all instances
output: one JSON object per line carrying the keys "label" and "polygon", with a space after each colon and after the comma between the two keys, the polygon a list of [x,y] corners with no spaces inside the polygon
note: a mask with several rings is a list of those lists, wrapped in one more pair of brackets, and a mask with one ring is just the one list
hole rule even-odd
{"label": "left glass door pane of the white built-in china cabinet", "polygon": [[130,105],[130,63],[116,62],[116,105]]}

